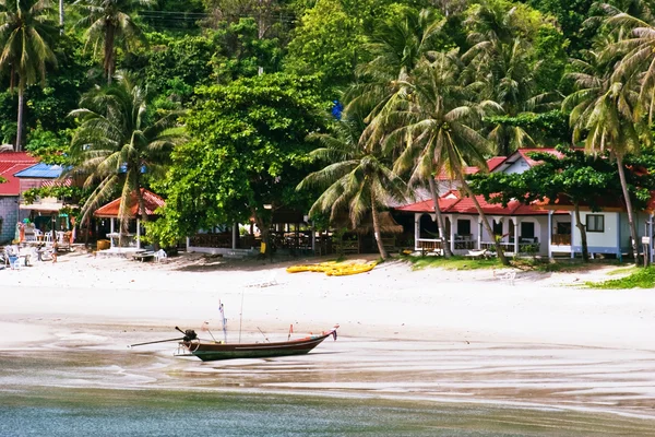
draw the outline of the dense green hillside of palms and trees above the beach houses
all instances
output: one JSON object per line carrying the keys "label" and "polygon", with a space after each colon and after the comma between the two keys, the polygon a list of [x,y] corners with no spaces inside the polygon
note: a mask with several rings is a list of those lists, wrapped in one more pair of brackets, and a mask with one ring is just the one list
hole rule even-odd
{"label": "dense green hillside of palms and trees above the beach houses", "polygon": [[[0,0],[0,137],[70,167],[87,189],[82,216],[159,192],[148,227],[167,243],[248,220],[265,233],[276,209],[356,225],[415,190],[437,198],[443,174],[474,200],[495,187],[587,202],[609,178],[636,259],[647,184],[631,163],[652,146],[655,111],[648,4]],[[544,158],[533,179],[486,186],[466,173],[526,145],[559,145],[575,169]],[[588,184],[572,184],[582,174]]]}

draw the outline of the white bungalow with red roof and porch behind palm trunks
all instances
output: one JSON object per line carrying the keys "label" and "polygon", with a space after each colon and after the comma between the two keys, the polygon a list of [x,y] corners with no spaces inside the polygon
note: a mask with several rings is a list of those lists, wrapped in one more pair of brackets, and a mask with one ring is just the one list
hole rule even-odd
{"label": "white bungalow with red roof and porch behind palm trunks", "polygon": [[[508,157],[496,157],[488,161],[489,170],[503,173],[523,173],[534,165],[529,152],[547,152],[558,154],[555,149],[522,149]],[[478,169],[469,167],[467,174]],[[446,241],[454,253],[464,255],[473,249],[486,249],[493,246],[495,238],[500,238],[501,246],[508,255],[534,253],[540,256],[565,256],[574,258],[582,252],[580,231],[575,227],[573,205],[564,199],[531,205],[517,201],[510,202],[507,208],[488,203],[483,196],[477,196],[483,211],[493,229],[488,235],[479,220],[473,200],[462,196],[456,181],[445,175],[438,176],[439,187],[450,187],[450,191],[440,192],[440,211],[445,220]],[[438,238],[438,228],[433,202],[431,199],[421,202],[396,206],[401,213],[414,214],[414,235],[416,250],[442,250],[442,241]],[[626,208],[619,199],[607,199],[600,212],[592,212],[587,205],[581,205],[581,220],[586,228],[587,247],[591,253],[612,255],[621,258],[630,252],[630,228]],[[634,213],[638,228],[638,241],[650,248],[653,261],[653,225],[655,215],[655,193],[645,211]]]}

